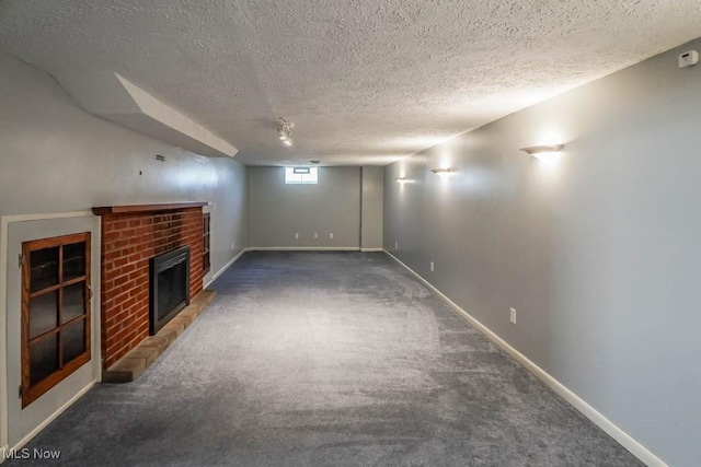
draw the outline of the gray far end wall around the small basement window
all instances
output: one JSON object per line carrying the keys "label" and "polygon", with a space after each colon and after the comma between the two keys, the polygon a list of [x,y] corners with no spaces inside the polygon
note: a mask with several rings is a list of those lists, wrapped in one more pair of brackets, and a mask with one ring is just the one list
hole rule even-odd
{"label": "gray far end wall around the small basement window", "polygon": [[360,167],[319,167],[318,185],[285,185],[284,167],[248,173],[251,246],[360,247]]}

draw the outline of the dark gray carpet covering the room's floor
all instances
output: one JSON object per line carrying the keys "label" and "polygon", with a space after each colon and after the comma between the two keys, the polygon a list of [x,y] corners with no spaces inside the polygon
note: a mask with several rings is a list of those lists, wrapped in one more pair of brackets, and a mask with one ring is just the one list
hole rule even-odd
{"label": "dark gray carpet covering the room's floor", "polygon": [[641,465],[383,254],[249,253],[215,288],[137,382],[27,447],[77,466]]}

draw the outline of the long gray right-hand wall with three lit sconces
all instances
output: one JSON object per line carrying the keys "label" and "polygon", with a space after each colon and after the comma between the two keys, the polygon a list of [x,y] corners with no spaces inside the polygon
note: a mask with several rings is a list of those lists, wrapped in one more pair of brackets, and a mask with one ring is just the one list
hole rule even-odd
{"label": "long gray right-hand wall with three lit sconces", "polygon": [[[701,465],[701,66],[677,68],[690,48],[384,173],[386,248],[676,466]],[[561,142],[551,170],[518,150]],[[429,172],[445,165],[457,173]]]}

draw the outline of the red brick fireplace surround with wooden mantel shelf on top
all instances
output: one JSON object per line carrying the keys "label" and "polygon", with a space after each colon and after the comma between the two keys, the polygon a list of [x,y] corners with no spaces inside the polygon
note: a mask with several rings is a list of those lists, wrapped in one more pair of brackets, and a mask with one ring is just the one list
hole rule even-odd
{"label": "red brick fireplace surround with wooden mantel shelf on top", "polygon": [[204,202],[93,208],[102,217],[101,345],[108,369],[149,336],[149,259],[189,246],[189,296],[203,289]]}

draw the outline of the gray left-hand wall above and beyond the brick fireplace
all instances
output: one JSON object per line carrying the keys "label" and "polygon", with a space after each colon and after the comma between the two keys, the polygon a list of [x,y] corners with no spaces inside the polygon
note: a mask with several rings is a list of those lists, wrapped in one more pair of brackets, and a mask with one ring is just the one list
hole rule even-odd
{"label": "gray left-hand wall above and beyond the brick fireplace", "polygon": [[[156,154],[166,161],[157,162]],[[0,163],[0,214],[210,201],[211,270],[248,246],[243,165],[195,155],[85,114],[46,73],[4,54]]]}

